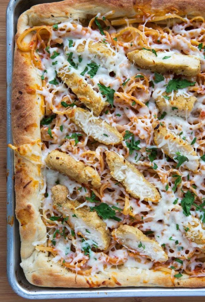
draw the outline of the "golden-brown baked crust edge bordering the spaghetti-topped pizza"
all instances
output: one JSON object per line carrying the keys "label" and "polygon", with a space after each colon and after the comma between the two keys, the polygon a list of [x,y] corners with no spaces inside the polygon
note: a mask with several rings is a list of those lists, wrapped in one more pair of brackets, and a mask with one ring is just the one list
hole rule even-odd
{"label": "golden-brown baked crust edge bordering the spaghetti-topped pizza", "polygon": [[[205,17],[205,8],[198,0],[65,0],[35,5],[25,11],[18,20],[18,36],[28,27],[42,24],[54,24],[65,21],[70,14],[76,18],[90,19],[97,13],[105,14],[114,10],[112,18],[138,17],[144,13],[177,12],[179,15]],[[109,17],[108,17],[109,18]],[[31,36],[30,36],[31,37]],[[27,37],[29,39],[29,35]],[[21,68],[19,68],[21,66]],[[12,131],[15,147],[32,144],[41,139],[40,120],[44,116],[43,98],[34,93],[41,86],[41,78],[31,64],[30,53],[23,53],[15,47],[12,92]],[[41,147],[39,146],[39,154]],[[44,196],[41,193],[43,179],[41,165],[14,152],[15,158],[15,193],[16,217],[21,235],[21,266],[27,280],[37,286],[48,287],[117,287],[117,286],[161,286],[161,287],[202,287],[205,278],[171,278],[164,271],[137,268],[115,268],[94,276],[76,275],[51,263],[51,258],[44,252],[38,252],[32,245],[34,241],[46,239],[46,226],[41,220],[39,207]]]}

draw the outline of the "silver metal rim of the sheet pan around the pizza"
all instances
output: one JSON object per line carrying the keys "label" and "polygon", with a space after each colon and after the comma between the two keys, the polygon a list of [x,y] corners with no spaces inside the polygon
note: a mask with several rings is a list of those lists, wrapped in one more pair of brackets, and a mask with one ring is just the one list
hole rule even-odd
{"label": "silver metal rim of the sheet pan around the pizza", "polygon": [[[40,3],[40,0],[27,0],[28,5]],[[43,2],[43,0],[42,0]],[[53,1],[44,1],[53,2]],[[14,53],[14,34],[16,26],[16,8],[23,0],[10,0],[6,11],[7,35],[7,143],[12,142],[11,134],[11,82]],[[24,2],[25,3],[25,2]],[[7,221],[15,216],[13,152],[7,150]],[[16,241],[18,240],[18,241]],[[100,298],[100,297],[182,297],[205,296],[205,288],[41,288],[31,285],[22,275],[19,265],[19,230],[14,219],[13,226],[7,224],[7,276],[11,288],[27,299],[63,299],[63,298]]]}

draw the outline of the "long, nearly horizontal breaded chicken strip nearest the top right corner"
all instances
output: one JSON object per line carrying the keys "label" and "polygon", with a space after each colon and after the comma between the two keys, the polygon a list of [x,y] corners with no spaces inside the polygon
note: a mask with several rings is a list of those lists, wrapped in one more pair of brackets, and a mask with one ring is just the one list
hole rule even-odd
{"label": "long, nearly horizontal breaded chicken strip nearest the top right corner", "polygon": [[[197,76],[200,73],[200,60],[196,56],[183,55],[173,51],[158,51],[155,56],[152,51],[134,50],[127,54],[128,59],[143,69],[153,72],[174,72],[177,75]],[[164,57],[168,59],[163,59]]]}

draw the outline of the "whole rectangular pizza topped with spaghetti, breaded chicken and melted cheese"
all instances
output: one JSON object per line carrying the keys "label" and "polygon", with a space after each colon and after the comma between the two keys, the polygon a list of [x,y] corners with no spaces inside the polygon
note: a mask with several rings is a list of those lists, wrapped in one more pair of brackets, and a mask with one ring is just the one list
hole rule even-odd
{"label": "whole rectangular pizza topped with spaghetti, breaded chicken and melted cheese", "polygon": [[9,146],[31,284],[205,285],[204,4],[19,17]]}

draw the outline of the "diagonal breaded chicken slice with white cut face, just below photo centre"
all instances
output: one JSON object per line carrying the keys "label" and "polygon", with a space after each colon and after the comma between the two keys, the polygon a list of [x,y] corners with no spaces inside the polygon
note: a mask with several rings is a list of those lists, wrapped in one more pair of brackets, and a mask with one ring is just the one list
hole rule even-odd
{"label": "diagonal breaded chicken slice with white cut face, just below photo centre", "polygon": [[161,197],[157,189],[146,180],[134,165],[114,151],[106,151],[105,153],[112,177],[121,182],[132,197],[155,203],[159,201]]}

